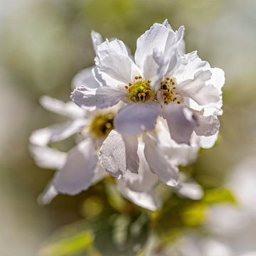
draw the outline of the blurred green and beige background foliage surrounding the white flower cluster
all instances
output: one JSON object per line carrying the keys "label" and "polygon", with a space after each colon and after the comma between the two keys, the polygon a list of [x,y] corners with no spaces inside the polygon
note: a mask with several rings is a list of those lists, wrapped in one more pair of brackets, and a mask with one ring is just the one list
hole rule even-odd
{"label": "blurred green and beige background foliage surrounding the white flower cluster", "polygon": [[[256,154],[255,1],[1,0],[0,4],[1,255],[29,256],[38,250],[47,256],[145,255],[152,236],[161,238],[160,250],[186,229],[201,230],[208,206],[236,203],[223,188],[225,176],[244,156]],[[183,168],[201,183],[204,198],[190,201],[159,188],[166,203],[151,213],[119,196],[107,179],[79,196],[58,196],[50,206],[37,206],[36,198],[53,173],[33,164],[28,136],[33,129],[60,121],[38,105],[38,97],[48,94],[68,100],[73,75],[93,63],[92,29],[124,40],[134,52],[137,37],[165,18],[174,29],[186,26],[188,51],[198,50],[201,58],[226,73],[221,139]],[[68,149],[73,144],[70,139],[58,146]]]}

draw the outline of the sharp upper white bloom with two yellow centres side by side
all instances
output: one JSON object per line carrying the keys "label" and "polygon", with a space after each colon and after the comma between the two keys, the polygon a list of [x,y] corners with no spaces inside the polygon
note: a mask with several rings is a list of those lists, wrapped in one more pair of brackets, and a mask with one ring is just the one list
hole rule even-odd
{"label": "sharp upper white bloom with two yellow centres side by side", "polygon": [[196,52],[181,50],[184,28],[155,23],[137,40],[134,60],[122,41],[105,41],[96,48],[98,88],[77,87],[71,98],[80,107],[105,108],[126,102],[114,120],[118,132],[134,135],[153,129],[161,114],[172,139],[190,144],[191,134],[210,137],[218,132],[224,73],[202,61]]}

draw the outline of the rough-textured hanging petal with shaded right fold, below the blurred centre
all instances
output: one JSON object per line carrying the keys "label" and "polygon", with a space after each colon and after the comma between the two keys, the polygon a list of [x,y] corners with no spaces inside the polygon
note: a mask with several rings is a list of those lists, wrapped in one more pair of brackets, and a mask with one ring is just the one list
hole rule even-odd
{"label": "rough-textured hanging petal with shaded right fold, below the blurred centre", "polygon": [[139,169],[137,147],[137,137],[122,137],[113,130],[100,148],[102,166],[115,178],[122,178],[127,170],[137,174]]}

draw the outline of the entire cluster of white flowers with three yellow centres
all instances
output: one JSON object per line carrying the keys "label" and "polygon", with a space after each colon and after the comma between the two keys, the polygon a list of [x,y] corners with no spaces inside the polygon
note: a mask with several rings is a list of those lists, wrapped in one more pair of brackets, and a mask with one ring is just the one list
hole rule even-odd
{"label": "entire cluster of white flowers with three yellow centres", "polygon": [[[183,26],[155,23],[138,38],[133,58],[122,41],[103,41],[92,31],[95,66],[75,76],[73,102],[41,99],[70,119],[31,135],[38,165],[58,169],[41,201],[80,193],[107,175],[117,178],[125,198],[149,210],[161,206],[159,182],[201,198],[200,186],[178,166],[215,144],[225,78],[196,52],[184,52],[183,33]],[[78,143],[68,153],[49,146],[73,134]]]}

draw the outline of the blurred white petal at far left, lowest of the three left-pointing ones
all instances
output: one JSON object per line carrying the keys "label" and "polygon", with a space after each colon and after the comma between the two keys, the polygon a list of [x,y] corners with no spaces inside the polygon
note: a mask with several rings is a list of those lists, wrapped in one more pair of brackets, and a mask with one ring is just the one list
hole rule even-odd
{"label": "blurred white petal at far left, lowest of the three left-pointing ones", "polygon": [[51,149],[48,146],[29,146],[29,151],[34,161],[41,168],[60,169],[67,159],[67,154],[57,149]]}

